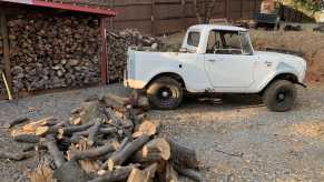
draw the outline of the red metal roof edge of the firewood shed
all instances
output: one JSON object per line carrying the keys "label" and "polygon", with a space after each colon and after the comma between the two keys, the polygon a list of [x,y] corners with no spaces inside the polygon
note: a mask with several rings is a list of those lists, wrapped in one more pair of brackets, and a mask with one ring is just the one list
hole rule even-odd
{"label": "red metal roof edge of the firewood shed", "polygon": [[105,17],[117,16],[116,11],[110,10],[110,9],[81,7],[81,6],[75,6],[75,4],[69,4],[69,3],[47,2],[47,1],[40,1],[40,0],[0,0],[0,2],[45,7],[45,8],[52,8],[52,9],[76,11],[76,12],[86,12],[86,13],[105,16]]}

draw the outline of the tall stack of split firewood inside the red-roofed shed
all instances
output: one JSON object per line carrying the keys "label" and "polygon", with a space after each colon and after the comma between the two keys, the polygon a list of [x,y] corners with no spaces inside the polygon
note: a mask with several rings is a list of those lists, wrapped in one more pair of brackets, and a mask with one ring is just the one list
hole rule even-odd
{"label": "tall stack of split firewood inside the red-roofed shed", "polygon": [[96,18],[24,14],[8,22],[14,91],[98,83]]}

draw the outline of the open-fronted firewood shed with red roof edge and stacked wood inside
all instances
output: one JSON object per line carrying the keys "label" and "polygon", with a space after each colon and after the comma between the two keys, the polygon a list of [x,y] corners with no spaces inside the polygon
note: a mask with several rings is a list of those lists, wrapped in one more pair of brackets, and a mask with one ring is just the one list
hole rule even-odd
{"label": "open-fronted firewood shed with red roof edge and stacked wood inside", "polygon": [[0,70],[14,93],[107,82],[105,19],[115,11],[0,0]]}

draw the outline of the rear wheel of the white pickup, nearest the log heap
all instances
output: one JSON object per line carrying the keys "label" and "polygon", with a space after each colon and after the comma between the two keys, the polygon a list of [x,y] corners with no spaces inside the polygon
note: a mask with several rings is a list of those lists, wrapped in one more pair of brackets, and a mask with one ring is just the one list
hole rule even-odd
{"label": "rear wheel of the white pickup, nearest the log heap", "polygon": [[158,110],[174,110],[183,101],[184,89],[181,84],[169,77],[155,80],[147,89],[153,108]]}

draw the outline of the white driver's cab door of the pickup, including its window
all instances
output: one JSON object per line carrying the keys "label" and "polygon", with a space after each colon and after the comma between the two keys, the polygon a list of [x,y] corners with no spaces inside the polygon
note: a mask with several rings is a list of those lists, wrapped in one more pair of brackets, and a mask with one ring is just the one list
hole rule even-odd
{"label": "white driver's cab door of the pickup, including its window", "polygon": [[204,59],[214,88],[248,88],[254,82],[257,55],[247,32],[213,30]]}

